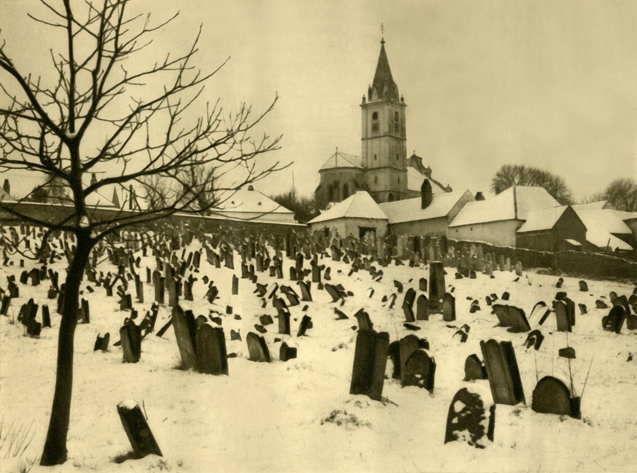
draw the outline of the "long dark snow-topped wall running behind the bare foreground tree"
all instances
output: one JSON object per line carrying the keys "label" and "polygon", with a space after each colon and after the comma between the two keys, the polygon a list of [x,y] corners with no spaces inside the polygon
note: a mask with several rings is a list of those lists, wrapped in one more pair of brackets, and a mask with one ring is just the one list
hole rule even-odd
{"label": "long dark snow-topped wall running behind the bare foreground tree", "polygon": [[[44,222],[60,222],[66,216],[71,215],[73,208],[60,204],[39,204],[37,202],[8,203],[4,206],[15,208],[20,213],[31,216]],[[93,208],[87,212],[89,218],[106,220],[111,218],[124,218],[134,215],[133,211],[120,210],[115,208]],[[24,223],[17,216],[11,215],[8,211],[0,210],[0,223],[4,225]],[[27,222],[28,223],[28,222]],[[186,225],[193,229],[203,227],[206,231],[218,229],[220,226],[233,227],[234,229],[259,232],[267,229],[269,232],[287,234],[306,230],[306,225],[300,223],[269,222],[262,218],[258,220],[238,220],[224,216],[201,216],[190,214],[175,214],[166,218],[155,219],[152,222],[135,225],[138,228],[155,228],[157,225],[170,223],[171,225]]]}

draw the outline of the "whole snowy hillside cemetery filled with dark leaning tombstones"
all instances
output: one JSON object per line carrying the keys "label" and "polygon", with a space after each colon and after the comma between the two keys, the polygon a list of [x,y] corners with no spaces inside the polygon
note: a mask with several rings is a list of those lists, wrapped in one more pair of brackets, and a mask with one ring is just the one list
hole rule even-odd
{"label": "whole snowy hillside cemetery filled with dark leaning tombstones", "polygon": [[[173,223],[109,236],[80,286],[55,471],[626,471],[635,273],[494,246]],[[73,237],[1,230],[1,470],[38,465]],[[559,441],[556,441],[559,439]],[[212,463],[211,463],[212,462]]]}

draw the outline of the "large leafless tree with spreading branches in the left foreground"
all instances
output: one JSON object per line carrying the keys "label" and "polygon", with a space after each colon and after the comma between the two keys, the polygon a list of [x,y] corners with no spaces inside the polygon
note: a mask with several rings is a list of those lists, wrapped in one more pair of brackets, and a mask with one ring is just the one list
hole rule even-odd
{"label": "large leafless tree with spreading branches in the left foreground", "polygon": [[[276,98],[254,116],[245,104],[226,114],[218,100],[206,104],[203,115],[194,116],[194,105],[205,100],[204,83],[225,62],[211,73],[192,65],[199,29],[185,52],[167,54],[145,66],[150,38],[177,15],[152,24],[150,15],[130,14],[129,3],[101,0],[72,6],[70,0],[41,0],[41,13],[29,16],[62,31],[66,38],[64,44],[52,45],[61,49],[52,50],[47,76],[18,70],[11,55],[22,49],[14,45],[10,51],[6,39],[0,42],[0,168],[25,169],[64,181],[73,211],[61,220],[45,221],[24,213],[19,205],[0,204],[0,208],[25,222],[71,232],[76,239],[64,286],[55,393],[41,465],[67,458],[73,339],[80,282],[90,251],[113,230],[200,204],[190,190],[175,185],[173,197],[155,208],[100,220],[87,197],[113,185],[145,186],[143,180],[150,176],[180,183],[187,169],[208,165],[218,174],[234,170],[231,184],[224,187],[215,181],[217,190],[228,192],[282,168],[276,163],[259,171],[255,163],[260,155],[278,149],[280,137],[250,138]],[[96,167],[108,169],[108,175],[87,183],[83,177]]]}

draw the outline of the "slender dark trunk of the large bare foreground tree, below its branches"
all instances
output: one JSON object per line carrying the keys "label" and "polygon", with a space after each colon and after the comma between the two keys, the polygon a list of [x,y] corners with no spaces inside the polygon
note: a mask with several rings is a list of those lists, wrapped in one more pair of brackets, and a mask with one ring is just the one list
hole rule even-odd
{"label": "slender dark trunk of the large bare foreground tree, below its branches", "polygon": [[83,272],[93,247],[89,232],[80,230],[76,236],[77,248],[66,274],[64,286],[64,311],[57,342],[55,393],[47,441],[40,460],[40,465],[43,466],[61,465],[66,462],[66,435],[69,431],[73,388],[73,339],[78,316],[80,283],[82,283]]}

